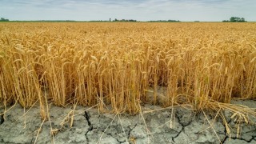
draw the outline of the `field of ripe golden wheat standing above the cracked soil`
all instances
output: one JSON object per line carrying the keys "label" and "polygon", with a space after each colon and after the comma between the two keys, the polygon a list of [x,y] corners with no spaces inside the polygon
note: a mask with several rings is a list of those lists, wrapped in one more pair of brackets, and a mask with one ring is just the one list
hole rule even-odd
{"label": "field of ripe golden wheat standing above the cracked soil", "polygon": [[231,98],[256,98],[255,23],[0,23],[2,106],[136,114]]}

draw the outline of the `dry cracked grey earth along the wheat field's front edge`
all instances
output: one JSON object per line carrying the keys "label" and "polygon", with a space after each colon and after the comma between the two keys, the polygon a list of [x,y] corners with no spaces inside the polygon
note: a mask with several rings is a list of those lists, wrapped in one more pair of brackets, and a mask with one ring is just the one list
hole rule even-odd
{"label": "dry cracked grey earth along the wheat field's front edge", "polygon": [[[256,102],[236,103],[255,108]],[[72,107],[50,106],[50,121],[42,122],[39,106],[24,110],[17,105],[0,117],[0,143],[256,143],[255,118],[250,125],[242,123],[242,133],[237,135],[232,114],[224,111],[230,125],[226,135],[222,119],[209,111],[204,114],[181,106],[142,109],[142,114],[131,116],[98,114],[97,109],[82,106],[72,113]]]}

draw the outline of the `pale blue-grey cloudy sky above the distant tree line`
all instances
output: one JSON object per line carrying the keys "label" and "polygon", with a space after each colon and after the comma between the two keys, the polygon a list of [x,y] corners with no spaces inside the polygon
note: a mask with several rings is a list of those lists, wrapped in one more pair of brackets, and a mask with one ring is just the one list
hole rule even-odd
{"label": "pale blue-grey cloudy sky above the distant tree line", "polygon": [[0,0],[10,20],[180,20],[219,22],[230,17],[256,22],[256,0]]}

